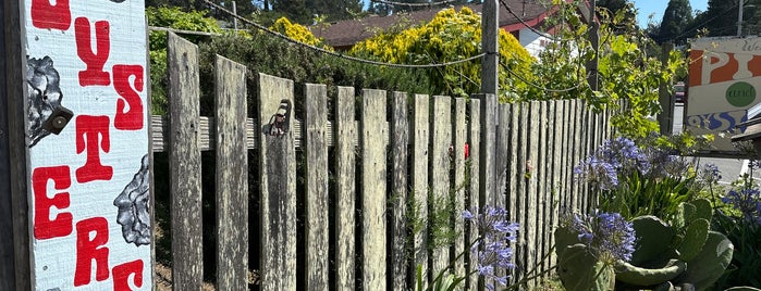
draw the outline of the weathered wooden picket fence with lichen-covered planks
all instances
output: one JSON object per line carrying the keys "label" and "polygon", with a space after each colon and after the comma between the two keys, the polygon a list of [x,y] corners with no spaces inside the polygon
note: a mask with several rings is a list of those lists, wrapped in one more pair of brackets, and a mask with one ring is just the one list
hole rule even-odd
{"label": "weathered wooden picket fence with lichen-covered planks", "polygon": [[[175,290],[199,289],[205,248],[218,252],[219,290],[246,289],[254,268],[261,290],[408,290],[415,266],[437,271],[467,250],[477,229],[458,214],[487,204],[507,208],[520,224],[515,276],[548,269],[555,257],[542,258],[560,210],[586,211],[590,199],[572,169],[611,135],[610,115],[590,113],[578,100],[498,104],[489,94],[465,100],[369,89],[356,97],[340,87],[329,109],[324,85],[306,85],[298,121],[292,80],[260,74],[258,88],[246,88],[246,67],[222,56],[217,113],[202,117],[197,60],[197,48],[170,33],[170,116],[152,118],[152,149],[170,157]],[[254,118],[246,116],[247,90],[260,97]],[[257,165],[248,164],[249,150]],[[217,217],[202,219],[216,219],[217,245],[201,242],[201,151],[216,151]],[[251,189],[258,202],[248,201],[249,168],[260,177]],[[306,175],[304,193],[296,191],[297,173]],[[427,217],[434,201],[451,197],[458,235],[452,246],[429,250],[429,229],[412,231],[408,212]],[[258,211],[249,213],[249,203]],[[255,215],[259,225],[248,225]],[[249,227],[260,237],[249,238]],[[254,241],[260,249],[249,254]],[[258,257],[258,266],[248,266],[248,257]],[[474,264],[474,256],[461,258],[455,270]],[[467,283],[476,290],[472,278]]]}

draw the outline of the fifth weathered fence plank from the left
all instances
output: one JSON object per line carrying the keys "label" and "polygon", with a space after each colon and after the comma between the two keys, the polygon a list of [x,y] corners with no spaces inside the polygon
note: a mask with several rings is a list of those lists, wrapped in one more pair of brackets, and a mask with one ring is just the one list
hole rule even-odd
{"label": "fifth weathered fence plank from the left", "polygon": [[335,101],[335,284],[339,291],[355,290],[354,241],[355,168],[354,88],[339,87]]}

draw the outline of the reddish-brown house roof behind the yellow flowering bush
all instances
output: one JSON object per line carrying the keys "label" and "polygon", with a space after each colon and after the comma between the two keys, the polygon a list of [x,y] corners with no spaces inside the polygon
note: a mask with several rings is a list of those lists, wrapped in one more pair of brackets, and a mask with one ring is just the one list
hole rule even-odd
{"label": "reddish-brown house roof behind the yellow flowering bush", "polygon": [[[544,7],[537,0],[504,0],[511,10],[520,20],[531,27],[538,27],[553,9]],[[476,13],[481,13],[482,4],[457,5],[459,11],[467,7]],[[500,7],[500,27],[507,31],[519,30],[524,27],[516,15],[511,14],[503,5]],[[347,20],[331,23],[330,25],[315,25],[309,27],[316,37],[323,38],[326,43],[334,47],[351,47],[356,42],[375,36],[393,25],[420,24],[431,21],[439,11],[445,8],[434,8],[405,13],[394,13],[388,16],[369,16],[359,20]]]}

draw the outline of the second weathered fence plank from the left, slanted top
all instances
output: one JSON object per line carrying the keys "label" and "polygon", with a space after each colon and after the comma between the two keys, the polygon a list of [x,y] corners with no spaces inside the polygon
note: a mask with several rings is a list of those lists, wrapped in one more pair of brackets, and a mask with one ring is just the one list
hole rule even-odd
{"label": "second weathered fence plank from the left, slanted top", "polygon": [[217,55],[217,289],[248,288],[246,66]]}

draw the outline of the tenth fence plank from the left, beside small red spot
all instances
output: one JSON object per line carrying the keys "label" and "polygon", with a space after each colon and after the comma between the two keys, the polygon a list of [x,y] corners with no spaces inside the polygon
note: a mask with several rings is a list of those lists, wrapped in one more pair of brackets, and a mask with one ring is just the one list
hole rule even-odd
{"label": "tenth fence plank from the left, beside small red spot", "polygon": [[[454,131],[454,186],[455,186],[455,193],[454,193],[454,205],[455,205],[455,212],[454,212],[454,231],[457,233],[457,237],[455,238],[455,243],[454,248],[452,249],[451,257],[455,257],[458,254],[463,253],[467,249],[467,242],[465,241],[465,230],[464,230],[464,222],[462,217],[463,210],[465,210],[465,193],[466,193],[466,187],[469,181],[465,180],[465,143],[467,142],[467,124],[466,124],[466,116],[465,116],[465,105],[466,101],[463,98],[457,98],[455,99],[455,106],[454,106],[454,117],[452,118],[453,122],[453,131]],[[464,257],[461,257],[455,262],[454,265],[454,270],[455,274],[458,274],[462,276],[465,273],[465,261]]]}

